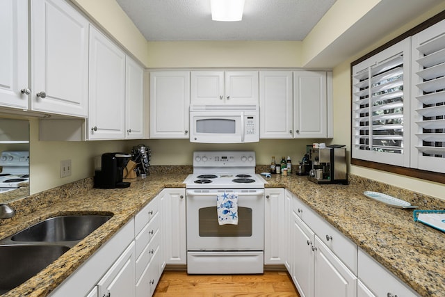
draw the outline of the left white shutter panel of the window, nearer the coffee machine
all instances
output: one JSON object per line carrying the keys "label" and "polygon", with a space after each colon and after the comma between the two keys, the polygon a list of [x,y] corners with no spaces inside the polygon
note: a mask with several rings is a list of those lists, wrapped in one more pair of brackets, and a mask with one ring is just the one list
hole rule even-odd
{"label": "left white shutter panel of the window, nearer the coffee machine", "polygon": [[410,38],[353,66],[353,158],[410,162]]}

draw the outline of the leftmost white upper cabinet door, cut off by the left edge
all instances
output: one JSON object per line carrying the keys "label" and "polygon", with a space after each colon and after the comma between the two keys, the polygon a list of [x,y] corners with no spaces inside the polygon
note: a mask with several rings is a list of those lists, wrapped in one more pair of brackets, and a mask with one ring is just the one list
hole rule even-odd
{"label": "leftmost white upper cabinet door, cut off by the left edge", "polygon": [[28,109],[27,0],[0,1],[0,36],[0,106]]}

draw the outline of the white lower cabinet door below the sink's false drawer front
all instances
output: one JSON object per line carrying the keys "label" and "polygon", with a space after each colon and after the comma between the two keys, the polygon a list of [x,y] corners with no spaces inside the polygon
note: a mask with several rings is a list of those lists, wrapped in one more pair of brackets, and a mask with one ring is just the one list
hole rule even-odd
{"label": "white lower cabinet door below the sink's false drawer front", "polygon": [[97,284],[99,296],[136,296],[134,241]]}

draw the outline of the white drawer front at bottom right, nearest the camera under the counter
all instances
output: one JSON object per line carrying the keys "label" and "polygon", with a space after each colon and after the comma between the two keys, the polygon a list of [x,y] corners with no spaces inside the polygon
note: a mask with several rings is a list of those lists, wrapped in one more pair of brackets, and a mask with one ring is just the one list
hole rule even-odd
{"label": "white drawer front at bottom right, nearest the camera under the counter", "polygon": [[358,260],[359,280],[362,280],[375,296],[419,296],[363,250],[359,249]]}

